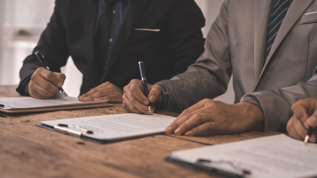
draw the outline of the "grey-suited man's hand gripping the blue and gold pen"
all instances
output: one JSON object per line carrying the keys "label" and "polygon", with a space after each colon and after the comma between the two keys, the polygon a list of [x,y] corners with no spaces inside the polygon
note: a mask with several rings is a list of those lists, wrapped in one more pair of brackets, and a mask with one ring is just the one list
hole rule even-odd
{"label": "grey-suited man's hand gripping the blue and gold pen", "polygon": [[162,87],[160,85],[147,84],[149,89],[149,99],[143,93],[143,84],[141,80],[133,79],[130,83],[123,88],[123,107],[128,112],[145,113],[152,115],[146,105],[151,103],[158,103],[162,101]]}

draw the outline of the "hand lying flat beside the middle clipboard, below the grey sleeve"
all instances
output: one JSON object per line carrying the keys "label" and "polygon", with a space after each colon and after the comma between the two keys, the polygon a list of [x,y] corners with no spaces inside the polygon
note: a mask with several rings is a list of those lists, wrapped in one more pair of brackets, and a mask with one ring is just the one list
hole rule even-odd
{"label": "hand lying flat beside the middle clipboard, below the grey sleeve", "polygon": [[184,110],[166,127],[165,132],[194,136],[205,132],[241,133],[263,127],[262,109],[252,103],[229,105],[221,101],[203,99]]}

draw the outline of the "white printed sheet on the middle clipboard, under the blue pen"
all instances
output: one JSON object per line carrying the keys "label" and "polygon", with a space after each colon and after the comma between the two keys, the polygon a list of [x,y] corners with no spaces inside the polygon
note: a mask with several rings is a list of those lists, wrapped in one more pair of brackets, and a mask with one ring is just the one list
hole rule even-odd
{"label": "white printed sheet on the middle clipboard, under the blue pen", "polygon": [[[80,126],[82,129],[94,132],[93,134],[86,134],[85,137],[112,141],[129,137],[164,133],[165,128],[175,119],[176,118],[174,117],[160,114],[145,115],[128,113],[43,121],[41,124],[52,127],[58,124]],[[77,128],[68,129],[81,131]]]}

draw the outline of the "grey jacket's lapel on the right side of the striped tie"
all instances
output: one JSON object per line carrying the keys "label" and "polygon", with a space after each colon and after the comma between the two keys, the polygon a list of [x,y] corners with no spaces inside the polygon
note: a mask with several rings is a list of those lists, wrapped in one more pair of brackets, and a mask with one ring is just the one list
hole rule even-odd
{"label": "grey jacket's lapel on the right side of the striped tie", "polygon": [[[276,49],[278,48],[278,46],[281,44],[281,42],[283,41],[283,39],[285,38],[285,36],[288,34],[288,32],[293,28],[294,24],[297,22],[297,20],[301,17],[301,15],[305,12],[305,10],[308,8],[308,6],[313,2],[314,0],[305,0],[305,1],[301,1],[301,0],[294,0],[293,3],[291,4],[291,6],[288,9],[288,12],[281,24],[281,27],[276,35],[276,38],[274,40],[273,46],[271,48],[270,53],[268,54],[268,59],[266,60],[264,67],[262,69],[262,72],[260,74],[259,80],[256,84],[256,87],[254,89],[254,91],[257,90],[259,81],[261,79],[261,76],[264,72],[264,70],[267,67],[268,62],[271,60],[274,52],[276,51]],[[268,9],[267,9],[268,10]],[[267,31],[268,25],[266,23],[266,26],[264,27],[265,31]],[[266,37],[266,35],[265,35]],[[263,42],[264,46],[265,46],[265,41]],[[265,47],[264,47],[265,48]],[[263,48],[263,57],[264,58],[264,48]],[[262,63],[263,63],[263,59],[262,59]]]}

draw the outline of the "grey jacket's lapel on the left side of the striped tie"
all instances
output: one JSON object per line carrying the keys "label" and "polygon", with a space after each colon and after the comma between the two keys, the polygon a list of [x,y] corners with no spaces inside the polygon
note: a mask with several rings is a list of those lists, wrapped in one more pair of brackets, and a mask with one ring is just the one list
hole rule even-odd
{"label": "grey jacket's lapel on the left side of the striped tie", "polygon": [[273,0],[255,1],[254,9],[254,75],[255,83],[260,78],[264,62],[264,50],[268,26],[268,16]]}

